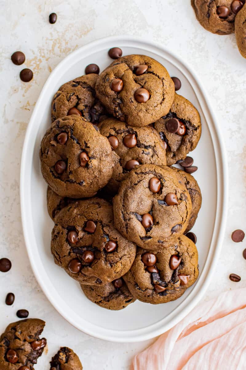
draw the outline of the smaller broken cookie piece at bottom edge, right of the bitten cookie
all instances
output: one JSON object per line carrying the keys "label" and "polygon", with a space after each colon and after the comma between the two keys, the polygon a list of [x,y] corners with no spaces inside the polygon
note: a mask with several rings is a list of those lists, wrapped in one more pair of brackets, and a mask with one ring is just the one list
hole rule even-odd
{"label": "smaller broken cookie piece at bottom edge, right of the bitten cookie", "polygon": [[50,370],[82,370],[83,366],[79,357],[68,347],[60,347],[52,357]]}

